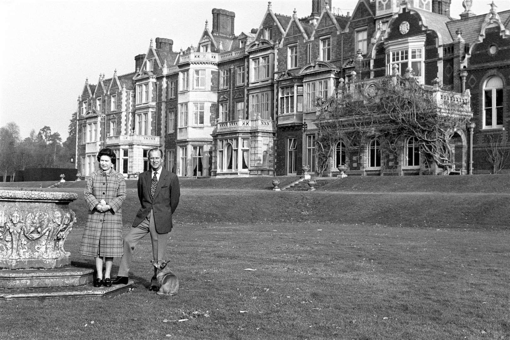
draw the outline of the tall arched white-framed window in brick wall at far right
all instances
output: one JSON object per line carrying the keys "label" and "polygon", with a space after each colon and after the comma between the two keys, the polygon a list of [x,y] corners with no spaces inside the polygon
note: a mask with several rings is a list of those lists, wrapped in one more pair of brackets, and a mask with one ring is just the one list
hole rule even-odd
{"label": "tall arched white-framed window in brick wall at far right", "polygon": [[483,86],[483,128],[503,127],[503,81],[490,77]]}

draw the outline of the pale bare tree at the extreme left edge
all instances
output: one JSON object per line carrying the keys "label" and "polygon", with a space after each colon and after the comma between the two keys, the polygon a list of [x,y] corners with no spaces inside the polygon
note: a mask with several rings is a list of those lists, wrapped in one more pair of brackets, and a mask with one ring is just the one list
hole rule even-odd
{"label": "pale bare tree at the extreme left edge", "polygon": [[19,126],[10,122],[6,126],[0,127],[0,170],[4,174],[4,181],[7,175],[12,174],[11,180],[14,179],[14,173],[18,166],[18,157],[16,148],[19,144]]}

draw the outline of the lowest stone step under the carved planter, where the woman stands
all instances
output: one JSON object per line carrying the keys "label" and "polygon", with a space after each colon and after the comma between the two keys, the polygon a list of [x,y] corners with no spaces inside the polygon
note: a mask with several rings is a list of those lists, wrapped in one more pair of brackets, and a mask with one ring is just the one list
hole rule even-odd
{"label": "lowest stone step under the carved planter, where the woman stands", "polygon": [[0,289],[0,300],[112,297],[128,292],[133,284],[130,280],[111,287],[94,287],[90,282],[76,287]]}

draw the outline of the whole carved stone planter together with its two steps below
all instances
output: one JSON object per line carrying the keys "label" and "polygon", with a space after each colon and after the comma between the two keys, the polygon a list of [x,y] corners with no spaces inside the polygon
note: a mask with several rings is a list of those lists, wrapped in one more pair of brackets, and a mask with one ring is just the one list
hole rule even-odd
{"label": "whole carved stone planter together with its two steps below", "polygon": [[104,296],[133,284],[95,288],[94,270],[70,266],[64,242],[76,222],[73,193],[0,190],[0,300]]}

